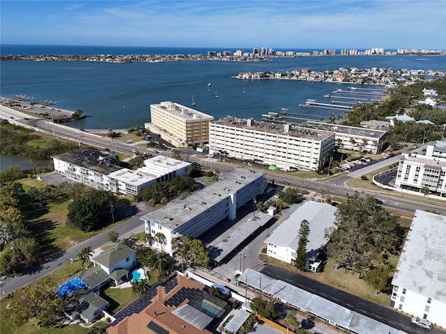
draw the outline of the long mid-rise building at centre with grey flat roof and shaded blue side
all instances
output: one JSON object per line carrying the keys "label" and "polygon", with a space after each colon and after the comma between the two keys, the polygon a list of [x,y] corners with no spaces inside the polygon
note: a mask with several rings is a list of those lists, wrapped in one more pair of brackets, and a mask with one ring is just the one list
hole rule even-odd
{"label": "long mid-rise building at centre with grey flat roof and shaded blue side", "polygon": [[226,218],[236,218],[236,210],[263,193],[265,173],[247,168],[236,168],[220,175],[219,180],[189,197],[175,199],[166,206],[141,216],[146,233],[155,237],[164,234],[164,244],[153,246],[173,253],[171,240],[181,235],[197,238]]}

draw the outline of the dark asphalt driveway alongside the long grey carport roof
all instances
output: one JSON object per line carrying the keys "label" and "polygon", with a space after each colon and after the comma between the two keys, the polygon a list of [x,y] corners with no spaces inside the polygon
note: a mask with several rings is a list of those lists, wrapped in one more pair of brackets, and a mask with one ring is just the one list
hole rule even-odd
{"label": "dark asphalt driveway alongside the long grey carport roof", "polygon": [[[270,264],[264,266],[261,273],[264,273],[265,275],[277,280],[283,280],[284,282],[294,285],[295,287],[299,287],[307,292],[321,296],[323,299],[337,303],[344,308],[348,308],[349,310],[366,315],[367,317],[380,321],[388,326],[392,326],[393,328],[398,328],[406,333],[425,332],[422,328],[410,324],[410,317],[407,317],[406,315],[402,315],[401,313],[390,308],[385,308],[381,305],[371,303],[370,301],[361,299],[360,297],[349,294],[348,292],[335,289],[329,285],[319,283],[316,280],[299,275],[298,273],[293,273],[283,268],[274,267]],[[445,332],[440,331],[438,328],[434,328],[430,333],[444,334]]]}

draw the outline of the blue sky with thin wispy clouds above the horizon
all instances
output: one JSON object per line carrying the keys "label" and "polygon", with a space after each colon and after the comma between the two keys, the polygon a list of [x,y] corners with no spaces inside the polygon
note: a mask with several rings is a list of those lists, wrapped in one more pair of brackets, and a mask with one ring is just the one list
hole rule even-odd
{"label": "blue sky with thin wispy clouds above the horizon", "polygon": [[1,44],[446,49],[445,0],[0,1]]}

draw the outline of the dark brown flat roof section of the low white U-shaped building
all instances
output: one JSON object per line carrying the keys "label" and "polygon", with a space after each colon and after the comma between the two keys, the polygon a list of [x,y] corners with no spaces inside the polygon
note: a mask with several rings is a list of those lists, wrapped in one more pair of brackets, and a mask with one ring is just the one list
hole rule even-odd
{"label": "dark brown flat roof section of the low white U-shaped building", "polygon": [[120,166],[110,164],[110,160],[114,157],[114,153],[98,150],[97,148],[83,148],[52,156],[54,159],[66,161],[69,164],[84,167],[102,175],[109,175],[109,173],[123,169]]}

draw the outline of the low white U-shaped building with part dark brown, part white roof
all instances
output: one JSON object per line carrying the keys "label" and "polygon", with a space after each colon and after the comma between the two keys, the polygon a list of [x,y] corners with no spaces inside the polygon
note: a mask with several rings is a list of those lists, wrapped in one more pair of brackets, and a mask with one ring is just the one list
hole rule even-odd
{"label": "low white U-shaped building with part dark brown, part white roof", "polygon": [[130,170],[116,166],[116,155],[96,148],[85,148],[56,154],[53,159],[56,173],[96,189],[136,196],[139,189],[155,182],[187,174],[189,162],[157,156],[144,161],[144,166]]}

